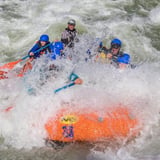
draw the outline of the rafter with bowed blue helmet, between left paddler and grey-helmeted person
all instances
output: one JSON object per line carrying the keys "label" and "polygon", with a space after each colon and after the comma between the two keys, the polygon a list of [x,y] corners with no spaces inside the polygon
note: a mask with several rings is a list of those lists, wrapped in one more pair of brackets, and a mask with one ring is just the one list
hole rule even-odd
{"label": "rafter with bowed blue helmet, between left paddler and grey-helmeted person", "polygon": [[57,56],[61,56],[62,50],[64,49],[63,43],[57,41],[51,44],[51,55],[50,58],[55,60]]}

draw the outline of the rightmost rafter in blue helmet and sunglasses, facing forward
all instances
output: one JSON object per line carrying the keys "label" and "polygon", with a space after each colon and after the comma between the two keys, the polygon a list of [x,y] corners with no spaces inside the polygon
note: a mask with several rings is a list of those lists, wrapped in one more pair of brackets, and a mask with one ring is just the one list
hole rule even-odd
{"label": "rightmost rafter in blue helmet and sunglasses, facing forward", "polygon": [[122,42],[115,38],[111,41],[111,46],[107,49],[102,45],[98,48],[99,57],[108,59],[117,68],[125,68],[130,64],[130,55],[121,51]]}

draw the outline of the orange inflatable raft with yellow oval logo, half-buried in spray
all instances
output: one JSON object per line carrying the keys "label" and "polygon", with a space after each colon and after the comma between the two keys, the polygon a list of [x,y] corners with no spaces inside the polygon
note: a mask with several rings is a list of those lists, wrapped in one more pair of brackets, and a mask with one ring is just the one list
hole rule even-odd
{"label": "orange inflatable raft with yellow oval logo, half-buried in spray", "polygon": [[[83,110],[84,111],[84,110]],[[96,111],[61,110],[45,124],[48,139],[60,142],[103,141],[108,138],[135,135],[138,120],[127,108]]]}

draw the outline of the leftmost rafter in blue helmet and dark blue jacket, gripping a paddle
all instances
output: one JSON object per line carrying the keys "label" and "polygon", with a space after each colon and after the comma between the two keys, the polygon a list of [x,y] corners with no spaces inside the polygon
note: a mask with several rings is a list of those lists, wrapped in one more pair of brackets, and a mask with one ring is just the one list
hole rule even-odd
{"label": "leftmost rafter in blue helmet and dark blue jacket, gripping a paddle", "polygon": [[25,63],[19,75],[23,76],[25,72],[32,69],[31,62],[39,58],[43,54],[51,53],[51,43],[49,41],[49,36],[47,34],[43,34],[40,36],[39,40],[36,44],[29,50],[28,56],[29,60]]}

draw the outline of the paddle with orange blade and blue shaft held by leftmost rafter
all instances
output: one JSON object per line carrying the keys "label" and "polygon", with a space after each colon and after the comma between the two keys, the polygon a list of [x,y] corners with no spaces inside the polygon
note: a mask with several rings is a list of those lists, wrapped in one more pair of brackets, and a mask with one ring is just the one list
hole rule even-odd
{"label": "paddle with orange blade and blue shaft held by leftmost rafter", "polygon": [[[37,52],[43,50],[44,48],[48,47],[48,46],[51,45],[51,44],[52,44],[52,43],[49,43],[49,44],[45,45],[44,47],[41,47],[40,49],[38,49],[37,51],[35,51],[35,52],[33,52],[33,53],[37,53]],[[7,64],[4,64],[3,66],[0,66],[0,69],[13,69],[16,64],[18,64],[19,62],[25,60],[25,59],[28,58],[28,57],[29,57],[29,55],[27,55],[27,56],[25,56],[25,57],[23,57],[23,58],[21,58],[21,59],[19,59],[19,60],[17,60],[17,61],[9,62],[9,63],[7,63]]]}

